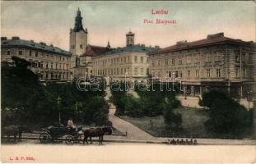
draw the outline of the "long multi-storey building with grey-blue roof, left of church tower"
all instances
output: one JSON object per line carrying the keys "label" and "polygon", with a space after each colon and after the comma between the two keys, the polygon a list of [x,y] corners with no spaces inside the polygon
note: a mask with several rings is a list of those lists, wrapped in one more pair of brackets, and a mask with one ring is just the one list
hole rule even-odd
{"label": "long multi-storey building with grey-blue roof, left of church tower", "polygon": [[63,49],[19,37],[1,37],[1,61],[11,62],[13,56],[30,62],[30,70],[40,80],[70,80],[71,53]]}

